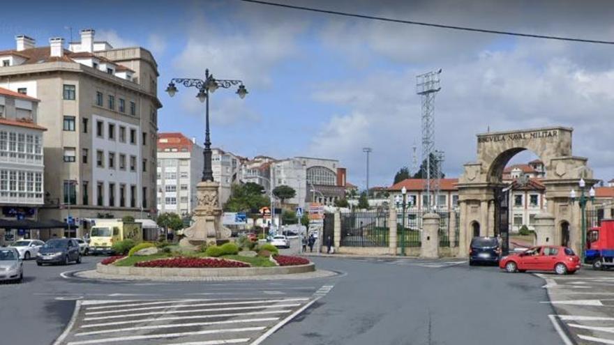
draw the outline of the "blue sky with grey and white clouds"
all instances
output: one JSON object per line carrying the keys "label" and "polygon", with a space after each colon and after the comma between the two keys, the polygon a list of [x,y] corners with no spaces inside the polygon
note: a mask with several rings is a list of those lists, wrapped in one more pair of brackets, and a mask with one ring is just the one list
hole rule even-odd
{"label": "blue sky with grey and white clouds", "polygon": [[[282,1],[279,1],[282,2]],[[287,0],[361,15],[594,40],[614,40],[613,1]],[[173,77],[241,79],[211,95],[213,145],[237,155],[340,160],[348,181],[391,185],[421,150],[416,75],[442,68],[435,148],[443,171],[476,159],[477,133],[563,125],[594,177],[614,178],[614,45],[569,43],[427,28],[274,8],[239,0],[31,1],[3,4],[0,47],[26,34],[78,40],[80,29],[114,47],[149,49],[160,77],[160,132],[204,141],[195,89],[165,92]],[[513,162],[536,156],[518,154]]]}

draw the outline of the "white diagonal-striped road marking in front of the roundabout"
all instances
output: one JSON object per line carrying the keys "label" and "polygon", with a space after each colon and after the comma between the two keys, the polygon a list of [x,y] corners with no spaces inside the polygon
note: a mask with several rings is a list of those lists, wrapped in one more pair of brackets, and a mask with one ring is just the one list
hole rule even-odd
{"label": "white diagonal-striped road marking in front of the roundabout", "polygon": [[311,301],[313,297],[80,300],[73,322],[54,345],[250,344]]}

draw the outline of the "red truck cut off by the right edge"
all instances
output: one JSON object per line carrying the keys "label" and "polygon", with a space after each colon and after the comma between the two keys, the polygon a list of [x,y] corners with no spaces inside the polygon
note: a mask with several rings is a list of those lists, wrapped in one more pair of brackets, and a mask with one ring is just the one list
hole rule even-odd
{"label": "red truck cut off by the right edge", "polygon": [[585,262],[595,270],[614,267],[614,220],[601,220],[586,233]]}

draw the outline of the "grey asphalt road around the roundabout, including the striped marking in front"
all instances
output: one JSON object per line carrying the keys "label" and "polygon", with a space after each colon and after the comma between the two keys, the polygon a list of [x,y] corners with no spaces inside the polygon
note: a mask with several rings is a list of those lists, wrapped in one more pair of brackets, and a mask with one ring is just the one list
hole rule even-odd
{"label": "grey asphalt road around the roundabout, including the striped marking in front", "polygon": [[[84,263],[70,266],[25,263],[24,284],[0,285],[0,343],[52,344],[79,300],[74,331],[63,344],[221,344],[211,339],[249,344],[304,307],[262,344],[562,344],[548,317],[552,306],[544,303],[544,280],[502,273],[496,267],[446,260],[315,257],[318,267],[342,274],[306,280],[174,283],[60,276],[93,268],[100,259],[88,256]],[[239,314],[215,316],[234,312],[241,313],[240,325],[225,325],[239,322]],[[188,324],[160,319],[167,316],[198,320]],[[220,321],[224,324],[218,325]],[[104,325],[87,328],[92,323]],[[177,327],[154,327],[169,323]]]}

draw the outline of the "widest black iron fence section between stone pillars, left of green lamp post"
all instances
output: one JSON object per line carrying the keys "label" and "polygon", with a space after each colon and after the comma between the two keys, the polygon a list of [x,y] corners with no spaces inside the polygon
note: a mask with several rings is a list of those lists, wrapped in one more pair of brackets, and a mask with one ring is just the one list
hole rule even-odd
{"label": "widest black iron fence section between stone pillars, left of green lamp post", "polygon": [[382,210],[340,213],[340,245],[388,247],[388,213]]}

